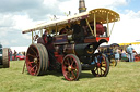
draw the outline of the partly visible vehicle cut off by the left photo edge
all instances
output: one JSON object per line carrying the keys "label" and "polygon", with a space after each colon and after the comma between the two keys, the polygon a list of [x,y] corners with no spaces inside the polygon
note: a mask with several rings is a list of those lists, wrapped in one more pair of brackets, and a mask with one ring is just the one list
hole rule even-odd
{"label": "partly visible vehicle cut off by the left photo edge", "polygon": [[9,58],[9,49],[3,48],[0,44],[0,67],[9,68],[10,67],[10,58]]}

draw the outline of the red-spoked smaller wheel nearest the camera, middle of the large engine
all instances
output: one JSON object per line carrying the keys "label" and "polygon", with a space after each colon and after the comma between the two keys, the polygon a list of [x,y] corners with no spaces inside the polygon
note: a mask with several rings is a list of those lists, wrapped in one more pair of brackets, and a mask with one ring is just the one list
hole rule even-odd
{"label": "red-spoked smaller wheel nearest the camera, middle of the large engine", "polygon": [[68,54],[62,62],[62,74],[68,81],[78,80],[81,74],[80,60],[74,54]]}

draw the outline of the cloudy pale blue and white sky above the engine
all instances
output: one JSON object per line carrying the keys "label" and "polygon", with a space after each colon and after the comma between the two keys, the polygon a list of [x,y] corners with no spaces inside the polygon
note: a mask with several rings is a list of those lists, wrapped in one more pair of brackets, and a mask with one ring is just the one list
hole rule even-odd
{"label": "cloudy pale blue and white sky above the engine", "polygon": [[[140,40],[140,0],[85,0],[88,11],[96,8],[110,9],[120,14],[115,23],[109,43]],[[71,11],[78,13],[79,0],[1,0],[0,43],[3,47],[28,47],[31,34],[22,34],[36,24],[61,18]],[[112,28],[112,27],[110,27]]]}

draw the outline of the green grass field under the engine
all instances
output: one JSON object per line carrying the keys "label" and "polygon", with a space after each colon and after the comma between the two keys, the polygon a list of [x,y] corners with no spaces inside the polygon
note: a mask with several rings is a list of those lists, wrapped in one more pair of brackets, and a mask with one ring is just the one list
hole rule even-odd
{"label": "green grass field under the engine", "polygon": [[0,92],[140,92],[140,62],[119,62],[107,77],[82,71],[79,81],[67,81],[56,71],[45,76],[22,74],[24,61],[12,61],[0,68]]}

